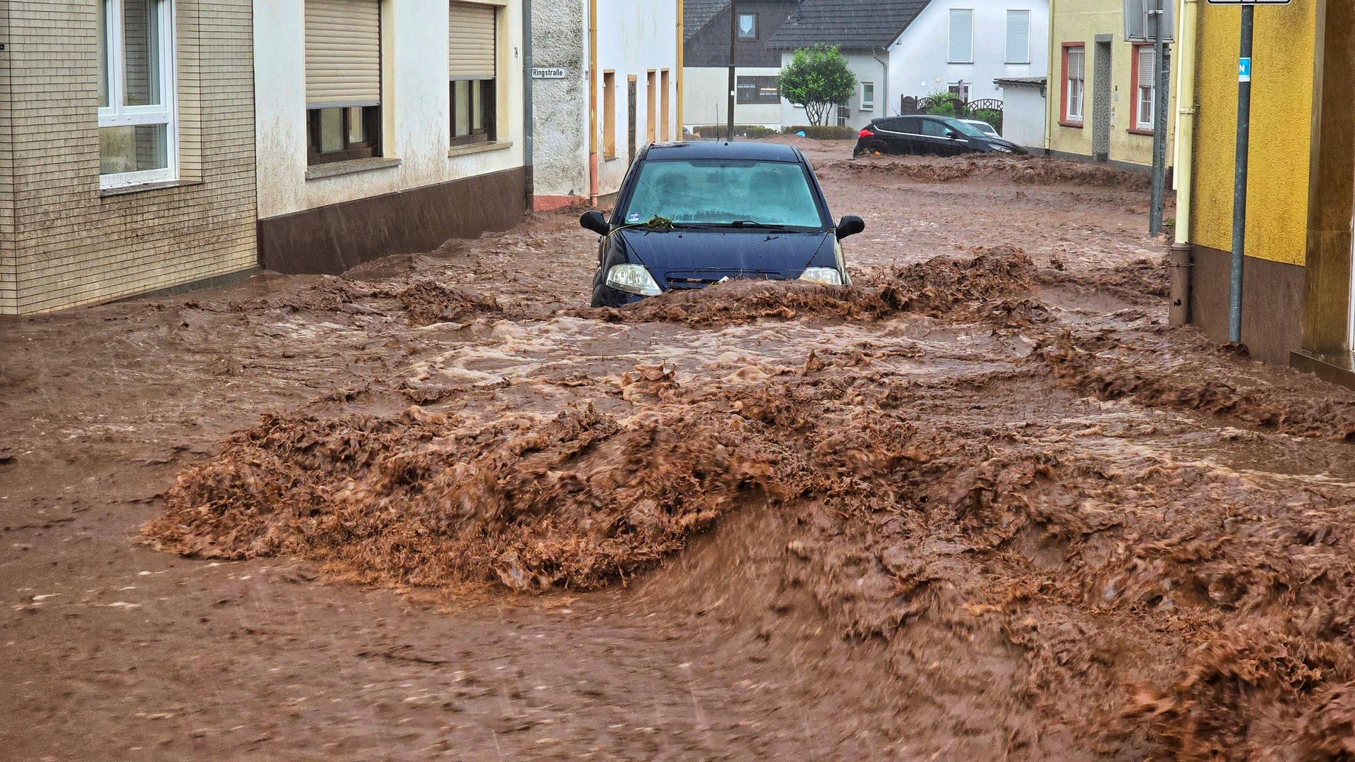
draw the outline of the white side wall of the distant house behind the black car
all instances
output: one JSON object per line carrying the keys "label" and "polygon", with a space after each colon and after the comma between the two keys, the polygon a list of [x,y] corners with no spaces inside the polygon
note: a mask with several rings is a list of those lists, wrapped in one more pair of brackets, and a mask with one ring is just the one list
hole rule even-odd
{"label": "white side wall of the distant house behind the black car", "polygon": [[[950,9],[974,11],[974,62],[948,64]],[[1030,64],[1007,64],[1007,11],[1030,11]],[[1049,73],[1049,0],[932,0],[890,47],[889,114],[904,95],[944,92],[959,80],[969,99],[1001,98],[997,77],[1038,77]]]}

